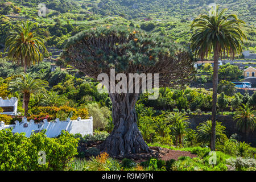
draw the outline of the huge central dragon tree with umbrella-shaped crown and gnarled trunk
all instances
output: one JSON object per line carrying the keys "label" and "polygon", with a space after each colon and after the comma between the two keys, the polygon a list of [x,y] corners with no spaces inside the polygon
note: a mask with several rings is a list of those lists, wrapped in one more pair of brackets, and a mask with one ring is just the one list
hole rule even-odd
{"label": "huge central dragon tree with umbrella-shaped crown and gnarled trunk", "polygon": [[[100,73],[110,77],[110,69],[129,77],[129,73],[158,73],[159,86],[186,85],[195,75],[191,52],[171,39],[125,26],[98,27],[70,38],[61,58],[85,75],[97,79]],[[117,83],[117,80],[115,80]],[[135,81],[132,82],[133,91]],[[155,84],[153,84],[154,87]],[[106,85],[105,85],[106,86]],[[102,143],[102,151],[112,156],[150,152],[137,126],[135,103],[142,93],[108,92],[112,100],[114,129]],[[108,90],[111,89],[109,80]]]}

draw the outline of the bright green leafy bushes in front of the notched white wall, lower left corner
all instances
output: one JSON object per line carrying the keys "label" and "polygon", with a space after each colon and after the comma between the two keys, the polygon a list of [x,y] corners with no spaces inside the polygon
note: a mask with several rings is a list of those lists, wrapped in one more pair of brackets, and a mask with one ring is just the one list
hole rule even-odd
{"label": "bright green leafy bushes in front of the notched white wall, lower left corner", "polygon": [[[47,138],[46,130],[30,138],[11,131],[0,131],[0,170],[64,170],[77,155],[78,140],[67,131],[62,131],[59,138]],[[46,153],[45,164],[38,163],[39,151]]]}

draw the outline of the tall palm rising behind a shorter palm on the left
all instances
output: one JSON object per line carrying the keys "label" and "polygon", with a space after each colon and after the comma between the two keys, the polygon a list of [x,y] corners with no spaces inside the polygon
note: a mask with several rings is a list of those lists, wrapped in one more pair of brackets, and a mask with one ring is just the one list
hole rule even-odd
{"label": "tall palm rising behind a shorter palm on the left", "polygon": [[35,26],[36,23],[28,21],[19,24],[13,31],[10,31],[5,43],[8,57],[13,60],[13,63],[21,64],[25,73],[27,67],[42,61],[43,55],[40,51],[46,51],[43,39],[32,31]]}

